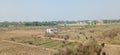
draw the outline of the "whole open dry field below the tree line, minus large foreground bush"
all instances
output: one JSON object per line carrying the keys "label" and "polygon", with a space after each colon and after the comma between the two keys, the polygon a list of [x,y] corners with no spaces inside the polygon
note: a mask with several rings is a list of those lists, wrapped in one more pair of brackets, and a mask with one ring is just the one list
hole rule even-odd
{"label": "whole open dry field below the tree line, minus large foreground bush", "polygon": [[[0,28],[0,55],[52,55],[66,46],[72,48],[94,38],[98,44],[106,43],[107,55],[120,53],[120,24],[95,26],[63,26],[58,33],[45,34],[51,27],[6,27]],[[69,37],[64,40],[65,37]],[[114,50],[114,51],[113,51]]]}

